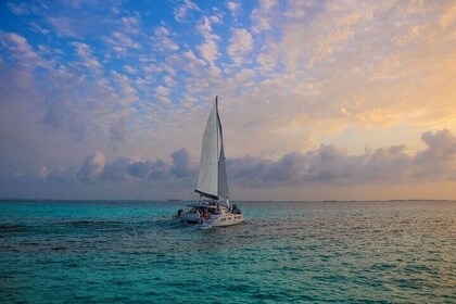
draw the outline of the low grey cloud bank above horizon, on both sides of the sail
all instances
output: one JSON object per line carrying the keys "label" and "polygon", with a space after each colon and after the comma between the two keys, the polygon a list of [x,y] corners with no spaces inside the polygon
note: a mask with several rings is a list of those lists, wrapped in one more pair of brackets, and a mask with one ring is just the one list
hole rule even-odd
{"label": "low grey cloud bank above horizon, on both sides of the sail", "polygon": [[[278,160],[257,156],[227,160],[230,183],[241,188],[304,187],[311,185],[356,186],[401,182],[456,180],[456,138],[448,130],[425,132],[427,148],[414,156],[405,153],[405,145],[391,145],[364,154],[351,155],[334,144],[322,144],[306,153],[291,152]],[[40,177],[48,181],[77,178],[86,183],[103,180],[169,180],[194,179],[198,167],[191,162],[189,150],[170,154],[172,163],[162,160],[134,161],[118,157],[106,163],[101,152],[88,155],[81,168],[41,168]],[[75,177],[72,178],[72,174]]]}

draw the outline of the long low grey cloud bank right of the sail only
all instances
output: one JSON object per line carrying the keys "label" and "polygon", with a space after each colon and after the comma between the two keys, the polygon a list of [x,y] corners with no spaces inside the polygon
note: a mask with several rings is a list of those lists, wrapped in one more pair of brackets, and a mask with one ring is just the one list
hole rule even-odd
{"label": "long low grey cloud bank right of the sail only", "polygon": [[456,180],[456,139],[448,130],[426,132],[427,149],[415,156],[404,145],[350,155],[333,144],[305,154],[292,152],[277,161],[246,156],[228,160],[228,176],[239,186],[301,187]]}

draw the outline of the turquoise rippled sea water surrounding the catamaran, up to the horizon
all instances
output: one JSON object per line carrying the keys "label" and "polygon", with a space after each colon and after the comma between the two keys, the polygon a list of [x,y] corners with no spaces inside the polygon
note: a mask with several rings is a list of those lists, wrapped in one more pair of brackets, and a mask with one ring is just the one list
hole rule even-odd
{"label": "turquoise rippled sea water surrounding the catamaran, up to the horizon", "polygon": [[0,202],[1,303],[456,303],[456,202]]}

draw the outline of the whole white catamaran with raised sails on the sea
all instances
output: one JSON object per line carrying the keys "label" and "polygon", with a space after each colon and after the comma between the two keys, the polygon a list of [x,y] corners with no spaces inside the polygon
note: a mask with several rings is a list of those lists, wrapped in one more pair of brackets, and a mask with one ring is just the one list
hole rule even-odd
{"label": "whole white catamaran with raised sails on the sea", "polygon": [[175,219],[212,227],[230,226],[244,220],[237,204],[230,205],[225,165],[224,135],[218,116],[218,97],[207,118],[201,150],[200,174],[194,192],[199,202],[179,210]]}

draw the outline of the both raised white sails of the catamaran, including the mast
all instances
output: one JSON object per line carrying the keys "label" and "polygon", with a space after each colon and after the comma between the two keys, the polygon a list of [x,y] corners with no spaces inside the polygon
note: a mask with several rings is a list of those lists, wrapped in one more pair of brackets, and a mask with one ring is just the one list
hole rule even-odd
{"label": "both raised white sails of the catamaran, including the mast", "polygon": [[228,181],[225,166],[224,137],[220,117],[218,116],[218,101],[207,118],[201,149],[200,175],[194,190],[201,195],[214,200],[219,198],[228,201]]}

